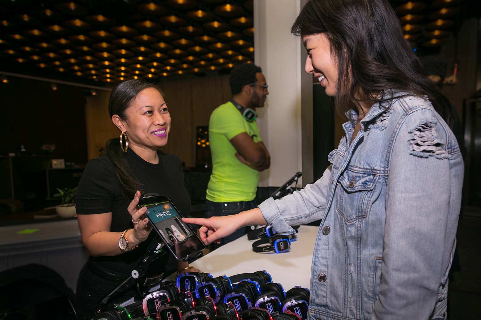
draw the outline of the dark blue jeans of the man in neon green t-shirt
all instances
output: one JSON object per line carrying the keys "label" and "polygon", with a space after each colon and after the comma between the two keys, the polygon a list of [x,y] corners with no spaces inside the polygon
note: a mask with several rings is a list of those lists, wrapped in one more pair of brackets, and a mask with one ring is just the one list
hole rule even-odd
{"label": "dark blue jeans of the man in neon green t-shirt", "polygon": [[[250,210],[257,208],[257,204],[254,200],[252,201],[235,201],[235,202],[212,202],[209,200],[205,201],[206,204],[206,211],[205,211],[205,218],[210,217],[223,217],[223,216],[231,216],[233,214],[237,214],[239,212]],[[249,227],[242,227],[241,229],[237,230],[233,234],[222,238],[220,240],[220,244],[213,243],[214,249],[217,249],[220,246],[225,245],[231,241],[234,241],[237,238],[240,238],[244,234],[247,234],[250,231]]]}

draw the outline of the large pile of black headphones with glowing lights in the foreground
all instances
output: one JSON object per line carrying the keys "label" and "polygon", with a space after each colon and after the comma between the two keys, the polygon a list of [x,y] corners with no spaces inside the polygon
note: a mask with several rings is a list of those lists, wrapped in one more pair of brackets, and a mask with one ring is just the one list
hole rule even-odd
{"label": "large pile of black headphones with glowing lights in the foreground", "polygon": [[307,320],[309,295],[299,286],[285,292],[266,271],[231,277],[186,272],[141,297],[141,303],[122,304],[91,319]]}

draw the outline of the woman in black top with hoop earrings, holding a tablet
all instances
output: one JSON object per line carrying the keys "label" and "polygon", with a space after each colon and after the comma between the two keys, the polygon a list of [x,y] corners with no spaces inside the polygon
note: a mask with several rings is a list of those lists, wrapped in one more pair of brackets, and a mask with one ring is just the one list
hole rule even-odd
{"label": "woman in black top with hoop earrings, holding a tablet", "polygon": [[[155,233],[147,219],[140,220],[145,207],[136,209],[141,194],[166,195],[181,214],[190,212],[180,160],[157,150],[167,143],[170,130],[160,88],[141,80],[125,81],[112,90],[109,113],[122,131],[121,139],[109,140],[106,153],[88,162],[76,197],[82,242],[90,254],[77,282],[78,319],[92,314],[147,255]],[[165,255],[150,269],[160,274],[187,267]],[[121,291],[115,301],[136,295],[132,287]]]}

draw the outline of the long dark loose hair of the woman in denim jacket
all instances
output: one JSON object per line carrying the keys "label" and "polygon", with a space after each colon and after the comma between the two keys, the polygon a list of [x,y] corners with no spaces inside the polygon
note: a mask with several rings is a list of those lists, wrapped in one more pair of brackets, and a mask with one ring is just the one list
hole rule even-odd
{"label": "long dark loose hair of the woman in denim jacket", "polygon": [[291,33],[323,33],[329,39],[339,67],[334,98],[338,112],[357,107],[360,101],[389,102],[392,96],[387,93],[394,89],[428,96],[451,124],[449,101],[426,77],[388,0],[308,0]]}

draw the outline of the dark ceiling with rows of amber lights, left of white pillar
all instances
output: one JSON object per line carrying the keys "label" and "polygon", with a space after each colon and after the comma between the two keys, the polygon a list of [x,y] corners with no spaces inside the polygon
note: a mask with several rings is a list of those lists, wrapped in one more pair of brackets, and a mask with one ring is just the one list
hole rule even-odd
{"label": "dark ceiling with rows of amber lights, left of white pillar", "polygon": [[114,84],[253,61],[253,0],[10,0],[0,12],[0,63],[24,72]]}

